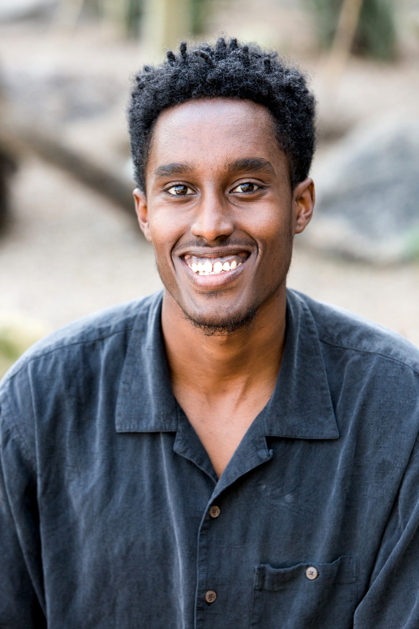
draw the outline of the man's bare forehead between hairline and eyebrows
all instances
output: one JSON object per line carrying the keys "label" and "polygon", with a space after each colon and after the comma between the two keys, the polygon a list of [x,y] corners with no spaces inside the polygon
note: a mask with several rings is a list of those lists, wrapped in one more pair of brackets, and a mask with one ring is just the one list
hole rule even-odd
{"label": "man's bare forehead between hairline and eyebrows", "polygon": [[273,117],[263,105],[243,99],[202,98],[166,109],[158,117],[149,165],[193,162],[225,164],[237,157],[282,154]]}

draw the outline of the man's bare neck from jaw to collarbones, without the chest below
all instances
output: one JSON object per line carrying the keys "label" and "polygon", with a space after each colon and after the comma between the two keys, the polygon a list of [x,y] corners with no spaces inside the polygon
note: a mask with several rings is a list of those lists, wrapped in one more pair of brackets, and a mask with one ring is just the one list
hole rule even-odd
{"label": "man's bare neck from jaw to collarbones, without the chest below", "polygon": [[199,389],[211,399],[218,392],[275,383],[285,341],[285,284],[259,308],[249,328],[207,337],[185,318],[165,291],[161,323],[173,389]]}

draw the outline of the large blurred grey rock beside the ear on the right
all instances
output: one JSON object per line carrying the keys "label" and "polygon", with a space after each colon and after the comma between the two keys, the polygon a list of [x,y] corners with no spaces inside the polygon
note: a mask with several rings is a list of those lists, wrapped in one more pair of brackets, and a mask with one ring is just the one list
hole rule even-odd
{"label": "large blurred grey rock beside the ear on the right", "polygon": [[419,254],[419,120],[356,126],[320,157],[308,245],[374,264]]}

